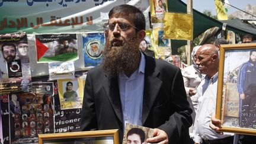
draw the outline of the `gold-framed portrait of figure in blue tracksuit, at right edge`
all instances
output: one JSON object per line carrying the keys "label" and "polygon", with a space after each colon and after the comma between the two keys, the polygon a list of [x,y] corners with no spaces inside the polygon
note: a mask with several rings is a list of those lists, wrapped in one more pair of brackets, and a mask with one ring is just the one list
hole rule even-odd
{"label": "gold-framed portrait of figure in blue tracksuit, at right edge", "polygon": [[256,134],[256,44],[220,47],[216,118],[220,131]]}

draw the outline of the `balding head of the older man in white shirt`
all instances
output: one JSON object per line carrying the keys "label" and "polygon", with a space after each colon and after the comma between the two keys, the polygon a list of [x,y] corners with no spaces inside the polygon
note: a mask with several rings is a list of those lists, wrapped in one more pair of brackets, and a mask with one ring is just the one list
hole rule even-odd
{"label": "balding head of the older man in white shirt", "polygon": [[201,73],[211,78],[219,70],[219,54],[213,44],[204,44],[197,50],[196,65]]}

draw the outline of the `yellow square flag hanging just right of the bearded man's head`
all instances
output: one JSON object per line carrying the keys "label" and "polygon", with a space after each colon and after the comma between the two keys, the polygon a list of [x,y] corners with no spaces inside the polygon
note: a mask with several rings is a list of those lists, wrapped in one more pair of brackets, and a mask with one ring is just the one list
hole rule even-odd
{"label": "yellow square flag hanging just right of the bearded man's head", "polygon": [[192,15],[165,12],[164,38],[174,40],[193,40]]}

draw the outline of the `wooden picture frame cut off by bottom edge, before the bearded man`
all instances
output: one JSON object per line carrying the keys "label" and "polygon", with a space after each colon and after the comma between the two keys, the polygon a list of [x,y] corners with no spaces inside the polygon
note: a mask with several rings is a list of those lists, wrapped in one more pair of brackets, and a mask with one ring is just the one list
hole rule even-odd
{"label": "wooden picture frame cut off by bottom edge, before the bearded man", "polygon": [[113,129],[39,135],[39,144],[60,143],[119,144],[119,132]]}

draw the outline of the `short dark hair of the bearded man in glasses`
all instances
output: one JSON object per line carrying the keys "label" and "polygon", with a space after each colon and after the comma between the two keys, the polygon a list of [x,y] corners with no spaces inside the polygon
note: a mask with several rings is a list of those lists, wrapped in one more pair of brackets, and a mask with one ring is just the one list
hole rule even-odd
{"label": "short dark hair of the bearded man in glasses", "polygon": [[131,18],[136,28],[138,28],[139,30],[146,29],[145,16],[143,15],[143,12],[132,5],[117,5],[110,10],[110,12],[108,13],[108,17]]}

